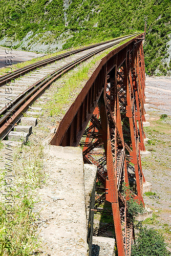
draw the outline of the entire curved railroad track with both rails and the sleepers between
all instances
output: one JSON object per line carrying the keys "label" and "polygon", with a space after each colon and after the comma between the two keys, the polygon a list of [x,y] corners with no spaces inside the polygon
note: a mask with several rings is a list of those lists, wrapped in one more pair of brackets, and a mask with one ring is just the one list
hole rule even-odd
{"label": "entire curved railroad track with both rails and the sleepers between", "polygon": [[[0,140],[5,138],[12,130],[35,99],[49,88],[52,82],[61,77],[62,74],[65,74],[95,54],[136,35],[124,36],[94,46],[70,51],[1,76],[0,106],[3,109],[0,111]],[[37,68],[38,70],[36,70]],[[22,77],[20,78],[20,76]],[[16,79],[18,77],[19,79]],[[13,81],[13,79],[16,80]],[[10,96],[10,98],[7,96]]]}

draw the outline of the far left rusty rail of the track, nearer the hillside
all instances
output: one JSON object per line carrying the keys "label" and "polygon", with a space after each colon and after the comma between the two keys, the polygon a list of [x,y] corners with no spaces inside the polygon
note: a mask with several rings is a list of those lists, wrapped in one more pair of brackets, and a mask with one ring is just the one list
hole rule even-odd
{"label": "far left rusty rail of the track, nearer the hillside", "polygon": [[[137,35],[138,33],[136,34],[131,34],[130,36],[133,36],[133,35]],[[126,38],[127,36],[122,36],[120,38],[115,38],[115,39],[112,39],[112,40],[109,40],[109,41],[105,41],[105,42],[100,42],[98,44],[95,44],[95,45],[91,45],[91,46],[87,46],[87,47],[83,47],[83,48],[80,48],[80,49],[77,49],[77,50],[72,50],[72,51],[69,51],[67,53],[62,53],[58,56],[55,56],[55,57],[51,57],[51,58],[48,58],[46,60],[40,60],[34,64],[30,64],[26,67],[23,67],[23,68],[19,68],[13,72],[10,72],[9,74],[7,75],[3,75],[3,76],[0,76],[0,87],[4,86],[5,84],[9,83],[12,79],[15,79],[19,76],[22,76],[22,75],[25,75],[26,73],[32,71],[32,70],[35,70],[37,68],[40,68],[40,67],[44,67],[52,62],[55,62],[56,60],[59,60],[59,59],[62,59],[62,58],[66,58],[68,56],[71,56],[72,54],[76,54],[76,53],[79,53],[79,52],[82,52],[82,51],[85,51],[85,50],[88,50],[88,49],[91,49],[91,48],[94,48],[94,47],[97,47],[97,46],[100,46],[100,45],[104,45],[104,44],[108,44],[108,42],[112,42],[112,41],[116,41],[116,40],[119,40],[119,39],[122,39],[122,38]]]}

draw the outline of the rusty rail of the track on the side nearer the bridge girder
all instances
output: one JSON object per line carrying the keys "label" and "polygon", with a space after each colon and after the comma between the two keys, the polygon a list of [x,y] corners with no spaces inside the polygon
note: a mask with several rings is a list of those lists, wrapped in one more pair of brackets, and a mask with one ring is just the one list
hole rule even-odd
{"label": "rusty rail of the track on the side nearer the bridge girder", "polygon": [[[127,36],[126,38],[130,38],[132,35]],[[0,139],[3,139],[8,132],[11,131],[13,126],[16,122],[19,121],[19,119],[23,116],[23,114],[26,112],[26,110],[29,108],[29,105],[40,95],[42,92],[44,92],[52,82],[54,82],[57,78],[59,78],[62,74],[65,74],[70,69],[73,69],[76,65],[78,65],[80,62],[85,61],[92,57],[93,55],[108,49],[119,42],[122,42],[125,40],[124,38],[115,40],[114,42],[111,42],[110,45],[104,46],[100,49],[97,49],[85,56],[82,56],[78,59],[76,59],[73,62],[70,62],[69,64],[59,68],[58,70],[52,72],[50,75],[45,76],[44,78],[40,79],[36,83],[34,83],[31,87],[29,87],[27,90],[25,90],[22,94],[20,94],[17,98],[15,98],[13,101],[11,101],[4,109],[0,111],[0,115],[2,116],[0,118]]]}

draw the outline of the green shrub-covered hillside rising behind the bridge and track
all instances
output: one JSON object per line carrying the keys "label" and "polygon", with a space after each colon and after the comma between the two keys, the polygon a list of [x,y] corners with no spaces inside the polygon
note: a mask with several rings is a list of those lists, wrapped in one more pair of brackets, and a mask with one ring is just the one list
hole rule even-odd
{"label": "green shrub-covered hillside rising behind the bridge and track", "polygon": [[169,61],[165,65],[161,63],[168,58],[170,0],[20,0],[19,7],[14,3],[17,2],[0,2],[0,39],[15,33],[16,47],[25,36],[30,38],[30,45],[34,36],[44,44],[63,40],[63,49],[106,40],[143,31],[147,17],[146,72],[154,74],[157,70],[166,75],[171,70],[171,62],[170,66]]}

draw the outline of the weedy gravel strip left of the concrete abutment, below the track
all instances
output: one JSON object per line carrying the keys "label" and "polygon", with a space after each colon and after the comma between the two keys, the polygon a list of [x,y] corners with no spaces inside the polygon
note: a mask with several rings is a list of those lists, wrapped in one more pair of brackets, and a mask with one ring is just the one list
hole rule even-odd
{"label": "weedy gravel strip left of the concrete abutment, below the track", "polygon": [[[45,183],[42,169],[42,146],[20,145],[14,149],[14,186],[11,189],[14,205],[9,212],[6,208],[5,172],[1,170],[0,187],[0,255],[28,256],[38,255],[40,242],[37,238],[36,220],[38,214],[33,211],[38,201],[36,188]],[[8,221],[7,222],[7,220]],[[8,232],[7,232],[8,230]],[[8,235],[7,235],[8,234]]]}

